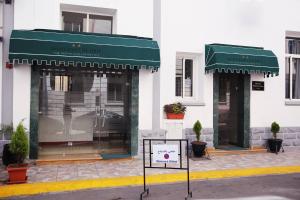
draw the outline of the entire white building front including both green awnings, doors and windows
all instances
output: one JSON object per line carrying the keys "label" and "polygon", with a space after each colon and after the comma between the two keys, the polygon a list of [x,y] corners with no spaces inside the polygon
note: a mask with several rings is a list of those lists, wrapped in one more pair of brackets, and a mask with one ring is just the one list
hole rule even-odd
{"label": "entire white building front including both green awnings, doors and windows", "polygon": [[[174,138],[177,133],[177,138],[193,140],[196,120],[210,148],[262,147],[273,121],[282,127],[279,137],[285,146],[300,146],[296,0],[15,0],[10,5],[13,26],[8,30],[13,35],[2,63],[13,63],[5,69],[13,74],[12,115],[2,106],[2,122],[4,115],[14,125],[24,119],[31,158],[135,156],[143,138]],[[113,48],[103,51],[145,63],[130,67],[101,61],[101,69],[95,69],[91,57],[103,51],[88,45],[98,39],[99,48]],[[118,43],[125,40],[133,44]],[[47,50],[46,42],[87,46],[79,55],[66,46]],[[141,51],[131,54],[122,50],[126,45]],[[225,51],[229,60],[237,57],[219,66],[223,57],[210,59],[210,48]],[[53,65],[49,54],[65,57]],[[88,57],[91,61],[85,63],[92,66],[75,69],[77,60],[70,57]],[[213,70],[208,68],[211,60]],[[261,63],[271,64],[262,69]],[[174,102],[187,107],[183,120],[166,119],[163,106]]]}

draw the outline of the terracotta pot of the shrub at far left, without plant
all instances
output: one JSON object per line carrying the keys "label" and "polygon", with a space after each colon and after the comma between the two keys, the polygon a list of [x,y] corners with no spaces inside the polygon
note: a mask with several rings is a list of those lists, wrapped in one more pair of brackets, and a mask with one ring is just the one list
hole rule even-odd
{"label": "terracotta pot of the shrub at far left, without plant", "polygon": [[15,184],[15,183],[26,183],[27,182],[27,168],[28,164],[10,164],[7,166],[7,172],[9,176],[8,183]]}

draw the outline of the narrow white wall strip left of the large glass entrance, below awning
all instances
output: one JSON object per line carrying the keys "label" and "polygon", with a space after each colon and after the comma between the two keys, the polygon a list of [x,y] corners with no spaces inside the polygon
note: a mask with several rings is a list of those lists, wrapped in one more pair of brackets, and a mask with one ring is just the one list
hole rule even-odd
{"label": "narrow white wall strip left of the large glass entrance, below awning", "polygon": [[13,124],[16,127],[24,119],[24,126],[29,130],[31,67],[17,65],[13,70]]}

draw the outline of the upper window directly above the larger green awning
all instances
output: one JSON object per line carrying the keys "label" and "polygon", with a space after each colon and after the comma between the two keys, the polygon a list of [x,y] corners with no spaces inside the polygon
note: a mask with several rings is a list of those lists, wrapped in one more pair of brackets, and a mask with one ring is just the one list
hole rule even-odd
{"label": "upper window directly above the larger green awning", "polygon": [[63,29],[72,32],[112,33],[112,16],[62,12]]}

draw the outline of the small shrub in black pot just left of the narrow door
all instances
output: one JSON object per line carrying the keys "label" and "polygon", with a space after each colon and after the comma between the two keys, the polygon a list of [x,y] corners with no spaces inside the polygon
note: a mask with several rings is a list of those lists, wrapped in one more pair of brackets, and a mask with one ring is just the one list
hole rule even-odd
{"label": "small shrub in black pot just left of the narrow door", "polygon": [[196,134],[196,141],[192,142],[192,149],[195,157],[202,157],[205,155],[206,142],[200,141],[202,125],[199,120],[197,120],[194,124],[193,131]]}

